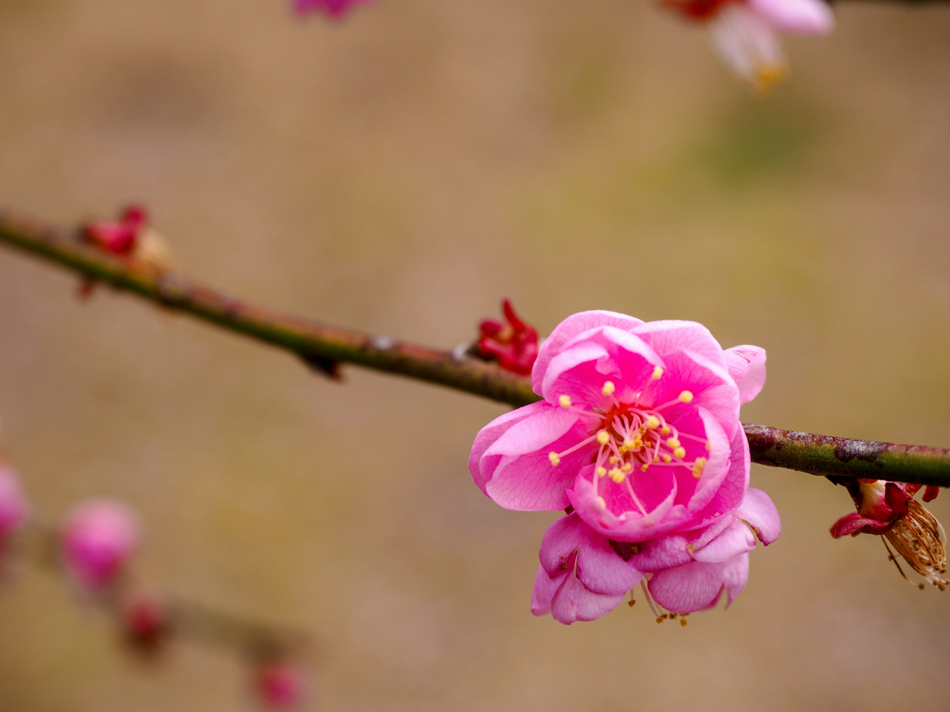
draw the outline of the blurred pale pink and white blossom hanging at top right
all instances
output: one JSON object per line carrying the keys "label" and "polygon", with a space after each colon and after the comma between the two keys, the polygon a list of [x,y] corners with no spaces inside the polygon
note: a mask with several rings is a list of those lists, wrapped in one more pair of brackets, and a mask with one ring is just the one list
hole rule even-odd
{"label": "blurred pale pink and white blossom hanging at top right", "polygon": [[834,14],[824,0],[664,0],[706,23],[712,45],[737,76],[761,91],[788,74],[779,31],[826,34]]}

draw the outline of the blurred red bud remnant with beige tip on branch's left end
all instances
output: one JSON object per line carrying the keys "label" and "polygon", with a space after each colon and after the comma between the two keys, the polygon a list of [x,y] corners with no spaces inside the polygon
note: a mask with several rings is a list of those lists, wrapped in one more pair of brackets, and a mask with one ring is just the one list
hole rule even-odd
{"label": "blurred red bud remnant with beige tip on branch's left end", "polygon": [[90,222],[83,232],[91,244],[141,272],[157,275],[174,266],[168,243],[148,227],[148,212],[141,205],[126,207],[118,220]]}

